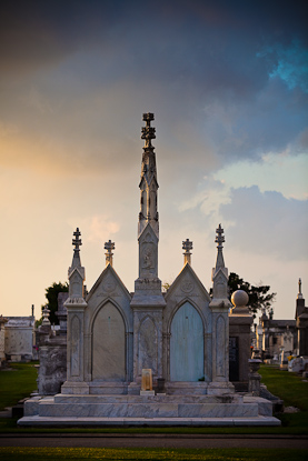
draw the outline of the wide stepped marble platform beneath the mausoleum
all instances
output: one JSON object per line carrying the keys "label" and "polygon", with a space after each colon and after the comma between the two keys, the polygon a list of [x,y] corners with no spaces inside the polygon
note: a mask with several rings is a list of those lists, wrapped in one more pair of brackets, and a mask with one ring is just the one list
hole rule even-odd
{"label": "wide stepped marble platform beneath the mausoleum", "polygon": [[272,403],[250,395],[32,398],[19,425],[279,425]]}

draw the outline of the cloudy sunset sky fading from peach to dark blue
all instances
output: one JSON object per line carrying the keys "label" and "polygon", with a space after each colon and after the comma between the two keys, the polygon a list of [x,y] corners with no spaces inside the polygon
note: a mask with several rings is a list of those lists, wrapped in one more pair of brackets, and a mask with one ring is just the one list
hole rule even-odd
{"label": "cloudy sunset sky fading from peach to dark blue", "polygon": [[2,1],[0,211],[3,315],[40,317],[82,233],[90,289],[116,242],[133,290],[143,112],[155,112],[159,277],[182,240],[206,288],[221,222],[225,261],[308,299],[308,37],[305,1]]}

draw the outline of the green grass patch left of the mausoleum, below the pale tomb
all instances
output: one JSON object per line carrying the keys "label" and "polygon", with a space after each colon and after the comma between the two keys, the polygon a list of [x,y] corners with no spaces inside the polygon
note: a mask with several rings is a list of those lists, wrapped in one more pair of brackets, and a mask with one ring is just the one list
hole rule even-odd
{"label": "green grass patch left of the mausoleum, below the pale tomb", "polygon": [[10,363],[0,371],[0,410],[12,407],[37,389],[38,372],[34,363]]}

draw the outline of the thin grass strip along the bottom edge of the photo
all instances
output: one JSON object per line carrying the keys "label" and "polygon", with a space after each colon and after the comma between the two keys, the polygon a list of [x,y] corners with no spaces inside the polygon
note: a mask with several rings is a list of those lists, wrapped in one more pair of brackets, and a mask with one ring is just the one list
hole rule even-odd
{"label": "thin grass strip along the bottom edge of the photo", "polygon": [[64,460],[207,460],[304,461],[306,450],[291,449],[98,449],[98,448],[0,448],[1,461]]}

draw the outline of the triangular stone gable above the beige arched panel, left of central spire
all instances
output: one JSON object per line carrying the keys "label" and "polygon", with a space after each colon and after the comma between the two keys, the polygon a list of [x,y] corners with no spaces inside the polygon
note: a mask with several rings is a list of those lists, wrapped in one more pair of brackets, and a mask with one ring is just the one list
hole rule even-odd
{"label": "triangular stone gable above the beige arched panel, left of central spire", "polygon": [[89,302],[92,300],[92,298],[105,299],[121,295],[125,295],[129,301],[131,300],[131,295],[128,292],[126,285],[115,269],[108,264],[89,291],[86,300]]}

